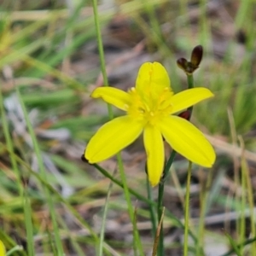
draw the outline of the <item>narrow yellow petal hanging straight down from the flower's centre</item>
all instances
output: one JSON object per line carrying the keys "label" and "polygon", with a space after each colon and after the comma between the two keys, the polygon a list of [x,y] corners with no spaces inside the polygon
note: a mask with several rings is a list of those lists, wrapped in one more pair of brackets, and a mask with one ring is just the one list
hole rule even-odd
{"label": "narrow yellow petal hanging straight down from the flower's centre", "polygon": [[147,125],[143,133],[144,146],[147,153],[148,180],[154,187],[160,182],[164,169],[165,150],[160,131]]}

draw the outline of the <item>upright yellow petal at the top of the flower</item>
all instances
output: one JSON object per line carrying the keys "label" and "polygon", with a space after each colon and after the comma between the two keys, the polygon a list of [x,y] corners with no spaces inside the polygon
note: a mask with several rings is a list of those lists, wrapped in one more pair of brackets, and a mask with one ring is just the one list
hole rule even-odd
{"label": "upright yellow petal at the top of the flower", "polygon": [[139,94],[152,96],[155,99],[170,86],[166,68],[159,62],[146,62],[140,67],[136,80],[136,89]]}

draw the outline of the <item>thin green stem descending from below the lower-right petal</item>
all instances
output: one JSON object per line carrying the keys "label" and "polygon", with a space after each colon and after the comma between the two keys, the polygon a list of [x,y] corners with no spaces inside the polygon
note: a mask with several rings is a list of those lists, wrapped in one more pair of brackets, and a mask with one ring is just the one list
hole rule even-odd
{"label": "thin green stem descending from below the lower-right petal", "polygon": [[188,256],[189,253],[189,195],[190,195],[190,181],[191,181],[192,163],[189,161],[186,197],[185,197],[185,218],[184,218],[184,248],[183,255]]}

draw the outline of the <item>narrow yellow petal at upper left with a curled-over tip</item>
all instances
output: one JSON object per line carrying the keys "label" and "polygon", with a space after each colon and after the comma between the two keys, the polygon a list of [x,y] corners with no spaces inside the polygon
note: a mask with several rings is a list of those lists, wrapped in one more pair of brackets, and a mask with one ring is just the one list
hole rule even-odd
{"label": "narrow yellow petal at upper left with a curled-over tip", "polygon": [[102,98],[104,102],[108,102],[116,108],[125,111],[131,102],[131,96],[127,92],[114,87],[98,87],[90,96],[93,98]]}

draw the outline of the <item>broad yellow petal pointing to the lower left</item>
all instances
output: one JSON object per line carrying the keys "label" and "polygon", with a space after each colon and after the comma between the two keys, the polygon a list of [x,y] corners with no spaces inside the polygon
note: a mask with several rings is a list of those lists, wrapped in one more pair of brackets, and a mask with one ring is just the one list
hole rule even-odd
{"label": "broad yellow petal pointing to the lower left", "polygon": [[142,131],[143,124],[128,115],[113,119],[90,139],[84,157],[90,164],[106,160],[134,142]]}

